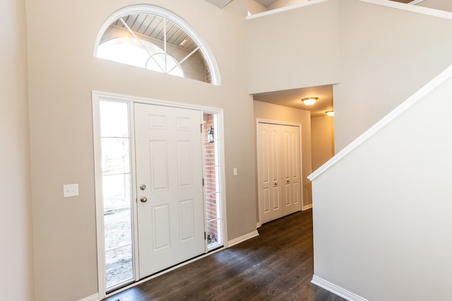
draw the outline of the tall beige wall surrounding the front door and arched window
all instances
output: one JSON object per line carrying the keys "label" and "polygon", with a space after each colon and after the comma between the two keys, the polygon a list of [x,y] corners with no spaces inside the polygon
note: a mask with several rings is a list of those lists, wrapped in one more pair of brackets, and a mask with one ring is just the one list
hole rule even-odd
{"label": "tall beige wall surrounding the front door and arched window", "polygon": [[[253,102],[246,87],[246,2],[153,0],[210,46],[222,86],[93,57],[97,31],[131,0],[27,1],[37,300],[97,293],[91,91],[224,109],[228,240],[256,230]],[[43,18],[52,16],[52,18]],[[203,18],[199,18],[203,16]],[[232,168],[239,168],[232,176]],[[78,183],[78,197],[62,185]]]}

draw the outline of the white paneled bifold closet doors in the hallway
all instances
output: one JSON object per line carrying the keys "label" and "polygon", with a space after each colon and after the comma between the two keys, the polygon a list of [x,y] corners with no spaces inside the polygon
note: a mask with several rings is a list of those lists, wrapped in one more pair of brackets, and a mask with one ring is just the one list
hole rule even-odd
{"label": "white paneled bifold closet doors in the hallway", "polygon": [[261,223],[302,209],[299,126],[258,123]]}

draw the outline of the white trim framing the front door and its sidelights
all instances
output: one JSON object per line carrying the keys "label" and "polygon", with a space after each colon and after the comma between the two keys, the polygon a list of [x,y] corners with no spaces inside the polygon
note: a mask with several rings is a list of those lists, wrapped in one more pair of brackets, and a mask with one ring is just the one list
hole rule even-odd
{"label": "white trim framing the front door and its sidelights", "polygon": [[[102,183],[102,168],[100,162],[100,109],[99,104],[101,100],[113,101],[113,102],[129,102],[129,124],[133,125],[133,103],[141,103],[141,104],[154,104],[157,106],[170,106],[174,108],[181,109],[194,109],[201,111],[202,113],[215,113],[218,118],[219,128],[215,129],[218,131],[218,159],[222,166],[225,166],[225,143],[224,143],[224,113],[223,109],[213,108],[209,106],[198,106],[194,104],[183,104],[178,102],[167,102],[160,99],[149,99],[145,97],[134,97],[130,95],[124,94],[115,94],[110,92],[100,92],[100,91],[92,91],[92,102],[93,102],[93,152],[94,152],[94,169],[95,169],[95,208],[96,208],[96,234],[97,234],[97,283],[98,283],[98,295],[100,299],[104,299],[107,297],[106,294],[106,283],[105,283],[105,241],[104,241],[104,219],[103,219],[103,201],[102,201],[102,187],[100,187],[100,183]],[[202,120],[200,121],[200,124]],[[136,187],[136,175],[135,171],[135,136],[133,130],[131,131],[131,178],[132,178],[132,187]],[[220,190],[222,192],[222,241],[224,242],[224,247],[227,247],[227,216],[226,216],[226,192],[225,192],[225,168],[221,170],[220,176]],[[136,199],[135,189],[132,189],[132,200]],[[205,200],[204,200],[205,202]],[[131,204],[132,206],[132,214],[133,214],[133,245],[138,241],[137,235],[137,223],[136,223],[136,205],[134,202]],[[134,249],[134,269],[135,269],[135,282],[128,285],[128,287],[136,285],[139,277],[138,271],[138,248],[133,247]],[[210,254],[210,253],[209,253]],[[170,269],[172,270],[172,269]],[[169,271],[169,270],[168,270]],[[160,274],[164,274],[159,273]],[[117,293],[115,291],[114,293]]]}

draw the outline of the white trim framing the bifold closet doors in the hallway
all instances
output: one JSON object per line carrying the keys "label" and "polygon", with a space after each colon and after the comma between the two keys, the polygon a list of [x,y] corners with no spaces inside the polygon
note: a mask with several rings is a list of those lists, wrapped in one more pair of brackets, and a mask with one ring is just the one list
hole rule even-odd
{"label": "white trim framing the bifold closet doors in the hallway", "polygon": [[262,216],[261,216],[261,198],[260,198],[260,192],[261,192],[261,175],[258,171],[259,166],[259,140],[258,140],[258,125],[259,123],[268,123],[268,124],[275,124],[275,125],[289,125],[289,126],[295,126],[299,130],[299,168],[300,168],[300,198],[302,202],[302,209],[304,207],[303,205],[303,164],[302,164],[302,124],[301,123],[292,123],[287,121],[274,121],[270,119],[262,119],[262,118],[256,118],[256,171],[257,171],[257,181],[258,181],[258,222],[256,223],[256,226],[260,227],[262,226]]}

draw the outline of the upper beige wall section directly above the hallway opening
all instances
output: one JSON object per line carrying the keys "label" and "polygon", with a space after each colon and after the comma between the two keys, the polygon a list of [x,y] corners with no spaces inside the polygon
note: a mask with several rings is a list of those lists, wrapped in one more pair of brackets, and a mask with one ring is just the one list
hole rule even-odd
{"label": "upper beige wall section directly above the hallway opening", "polygon": [[246,21],[250,94],[338,82],[339,4],[330,0]]}

